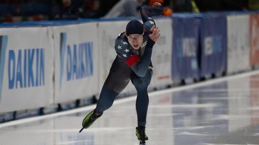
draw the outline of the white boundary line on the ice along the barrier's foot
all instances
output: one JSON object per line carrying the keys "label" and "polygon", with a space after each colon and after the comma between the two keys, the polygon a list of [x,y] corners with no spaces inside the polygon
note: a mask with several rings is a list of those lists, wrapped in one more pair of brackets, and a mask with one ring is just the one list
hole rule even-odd
{"label": "white boundary line on the ice along the barrier's foot", "polygon": [[[161,94],[164,94],[164,93],[172,93],[172,92],[175,92],[175,91],[182,91],[182,90],[186,90],[186,89],[193,89],[193,88],[196,88],[196,87],[203,87],[203,86],[215,84],[215,83],[218,83],[218,82],[223,82],[223,81],[226,81],[226,80],[234,80],[234,79],[238,79],[238,78],[244,78],[244,77],[247,77],[247,76],[253,76],[253,75],[256,75],[256,74],[259,74],[259,70],[249,71],[249,72],[245,72],[245,73],[242,73],[242,74],[236,74],[236,75],[233,75],[233,76],[215,78],[215,79],[212,79],[212,80],[206,80],[204,82],[198,82],[198,83],[194,83],[194,84],[191,84],[191,85],[173,87],[173,88],[164,89],[164,90],[161,90],[161,91],[153,91],[151,93],[148,93],[148,96],[151,97],[151,96],[161,95]],[[115,100],[114,104],[121,104],[121,103],[124,103],[124,102],[130,102],[130,101],[133,101],[133,100],[135,100],[135,96],[129,96],[127,98]],[[54,118],[54,117],[57,117],[57,116],[68,115],[68,114],[78,113],[78,112],[82,112],[82,111],[90,111],[90,110],[95,109],[95,105],[96,104],[91,104],[87,107],[81,107],[79,109],[71,109],[71,110],[68,110],[68,111],[62,111],[62,112],[52,113],[52,114],[48,114],[48,115],[42,115],[42,116],[37,116],[37,117],[32,117],[32,118],[25,118],[25,119],[21,119],[21,120],[6,122],[6,123],[0,124],[0,128],[6,127],[6,126],[13,126],[13,125],[17,125],[17,124],[23,124],[23,123],[27,123],[27,122],[33,122],[33,121],[36,121],[36,120],[44,120],[44,119],[47,119],[47,118]]]}

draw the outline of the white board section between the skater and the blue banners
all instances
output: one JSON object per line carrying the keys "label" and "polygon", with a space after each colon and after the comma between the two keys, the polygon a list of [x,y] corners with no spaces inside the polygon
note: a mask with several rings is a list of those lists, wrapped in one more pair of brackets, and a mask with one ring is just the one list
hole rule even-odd
{"label": "white board section between the skater and the blue banners", "polygon": [[171,75],[173,28],[172,19],[157,19],[155,23],[160,28],[161,36],[153,47],[153,77],[150,87],[160,88],[173,85]]}

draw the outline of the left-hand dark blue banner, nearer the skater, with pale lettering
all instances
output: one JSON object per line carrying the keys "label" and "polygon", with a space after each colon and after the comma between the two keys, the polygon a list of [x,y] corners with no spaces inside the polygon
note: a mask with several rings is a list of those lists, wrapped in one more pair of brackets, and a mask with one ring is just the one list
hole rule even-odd
{"label": "left-hand dark blue banner, nearer the skater, with pale lettering", "polygon": [[173,80],[198,78],[198,38],[200,19],[189,15],[173,16]]}

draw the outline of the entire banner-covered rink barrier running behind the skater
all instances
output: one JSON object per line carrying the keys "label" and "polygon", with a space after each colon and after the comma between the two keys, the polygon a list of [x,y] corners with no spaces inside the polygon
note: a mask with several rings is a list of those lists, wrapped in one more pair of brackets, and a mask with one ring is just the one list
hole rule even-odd
{"label": "entire banner-covered rink barrier running behind the skater", "polygon": [[[258,68],[258,13],[209,12],[155,18],[162,36],[154,46],[150,91],[179,85],[178,80],[202,80],[207,75]],[[1,24],[0,122],[96,102],[116,55],[114,40],[130,19]],[[235,67],[240,61],[243,64]],[[44,85],[39,86],[42,82]],[[25,87],[29,83],[30,87]],[[132,93],[135,89],[129,85],[122,96]]]}

